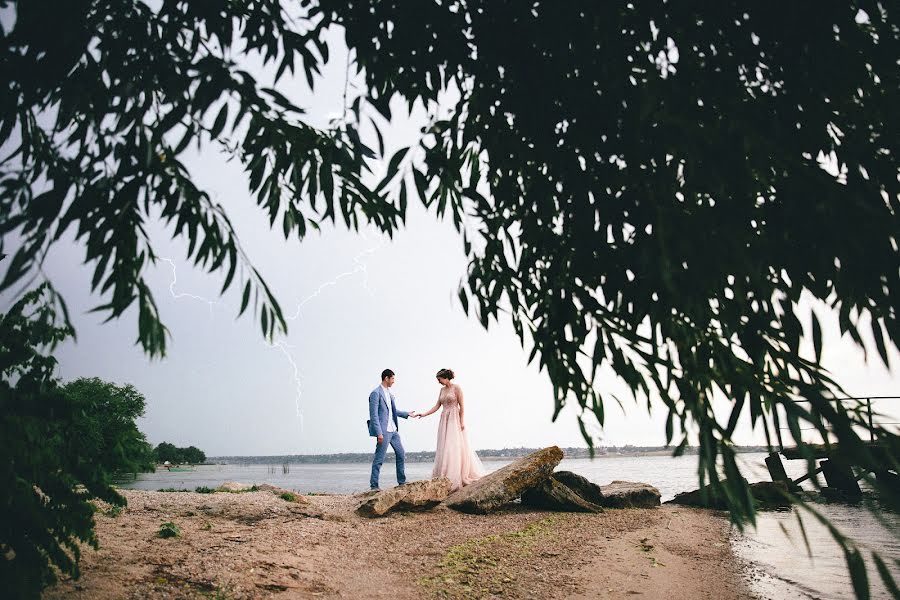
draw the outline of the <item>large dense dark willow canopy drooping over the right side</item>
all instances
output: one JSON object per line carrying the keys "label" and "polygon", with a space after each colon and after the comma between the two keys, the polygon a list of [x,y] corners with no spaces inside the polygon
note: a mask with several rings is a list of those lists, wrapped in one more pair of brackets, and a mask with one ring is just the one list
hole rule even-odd
{"label": "large dense dark willow canopy drooping over the right side", "polygon": [[738,524],[753,501],[731,440],[748,416],[770,447],[811,428],[864,470],[900,472],[900,439],[832,401],[818,317],[805,335],[800,321],[801,297],[827,303],[886,365],[900,342],[896,7],[323,5],[379,97],[459,92],[413,179],[474,223],[461,303],[529,338],[555,414],[574,400],[602,425],[619,399],[598,373],[614,372],[665,405],[676,454],[699,436],[700,484]]}

